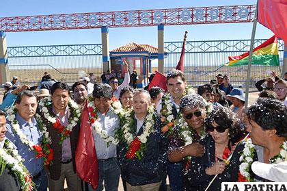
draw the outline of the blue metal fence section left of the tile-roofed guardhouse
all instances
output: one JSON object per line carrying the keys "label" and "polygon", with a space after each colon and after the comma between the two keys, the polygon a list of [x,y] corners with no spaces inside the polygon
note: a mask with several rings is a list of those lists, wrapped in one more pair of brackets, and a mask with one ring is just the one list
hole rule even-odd
{"label": "blue metal fence section left of the tile-roofed guardhouse", "polygon": [[8,47],[8,63],[10,75],[24,83],[38,83],[45,71],[57,80],[74,82],[79,71],[102,73],[102,44]]}

